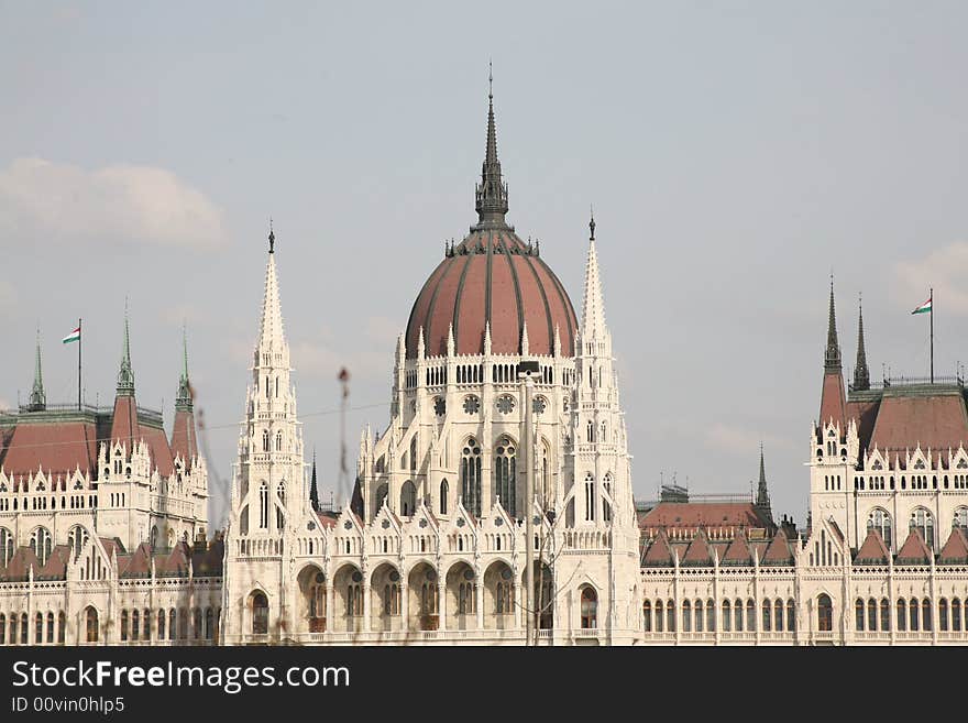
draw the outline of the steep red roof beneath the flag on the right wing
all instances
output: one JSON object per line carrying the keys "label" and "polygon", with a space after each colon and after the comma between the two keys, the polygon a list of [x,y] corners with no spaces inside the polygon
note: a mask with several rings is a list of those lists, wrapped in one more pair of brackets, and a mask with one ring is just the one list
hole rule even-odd
{"label": "steep red roof beneath the flag on the right wing", "polygon": [[960,394],[932,396],[886,395],[881,401],[870,445],[880,450],[925,452],[968,447],[968,414]]}

